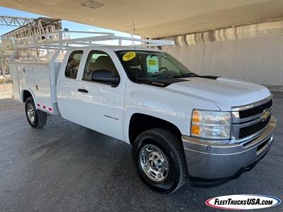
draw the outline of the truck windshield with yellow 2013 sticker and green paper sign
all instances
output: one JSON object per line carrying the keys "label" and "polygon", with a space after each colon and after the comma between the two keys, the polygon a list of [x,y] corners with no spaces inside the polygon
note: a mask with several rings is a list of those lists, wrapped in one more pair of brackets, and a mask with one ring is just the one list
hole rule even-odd
{"label": "truck windshield with yellow 2013 sticker and green paper sign", "polygon": [[166,52],[119,51],[117,52],[127,76],[134,82],[159,78],[180,78],[193,75],[189,69]]}

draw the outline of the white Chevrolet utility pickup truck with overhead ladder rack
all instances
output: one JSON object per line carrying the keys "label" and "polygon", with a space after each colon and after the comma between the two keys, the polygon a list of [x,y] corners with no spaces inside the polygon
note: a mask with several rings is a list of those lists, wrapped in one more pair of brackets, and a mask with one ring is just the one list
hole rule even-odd
{"label": "white Chevrolet utility pickup truck with overhead ladder rack", "polygon": [[162,193],[186,179],[213,184],[237,177],[269,151],[276,119],[264,86],[199,76],[152,48],[172,41],[65,34],[18,40],[9,61],[13,99],[25,102],[33,128],[60,114],[131,144],[137,174]]}

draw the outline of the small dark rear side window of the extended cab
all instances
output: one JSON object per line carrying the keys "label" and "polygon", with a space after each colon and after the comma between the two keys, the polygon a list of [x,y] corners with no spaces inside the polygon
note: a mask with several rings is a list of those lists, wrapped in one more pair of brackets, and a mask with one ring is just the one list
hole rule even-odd
{"label": "small dark rear side window of the extended cab", "polygon": [[83,56],[83,51],[71,52],[67,67],[65,70],[65,76],[67,78],[76,78],[79,71],[79,64],[81,62],[81,57]]}

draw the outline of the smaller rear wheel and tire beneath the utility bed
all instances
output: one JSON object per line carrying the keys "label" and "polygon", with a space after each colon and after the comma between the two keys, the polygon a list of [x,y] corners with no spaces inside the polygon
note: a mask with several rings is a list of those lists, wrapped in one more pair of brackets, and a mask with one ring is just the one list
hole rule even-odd
{"label": "smaller rear wheel and tire beneath the utility bed", "polygon": [[30,126],[35,129],[40,129],[45,126],[47,122],[47,113],[41,110],[35,109],[35,102],[32,97],[28,97],[25,100],[25,116],[28,119]]}

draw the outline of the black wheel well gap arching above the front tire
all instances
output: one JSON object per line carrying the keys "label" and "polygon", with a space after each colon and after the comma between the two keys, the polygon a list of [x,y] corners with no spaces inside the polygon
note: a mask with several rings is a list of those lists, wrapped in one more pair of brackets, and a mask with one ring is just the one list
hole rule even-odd
{"label": "black wheel well gap arching above the front tire", "polygon": [[182,136],[178,127],[171,122],[167,122],[163,119],[152,117],[147,114],[136,113],[132,115],[129,121],[129,142],[132,144],[134,142],[134,139],[136,139],[137,136],[143,131],[154,128],[167,129],[168,131],[171,131],[175,136],[177,136],[177,138],[181,138]]}

